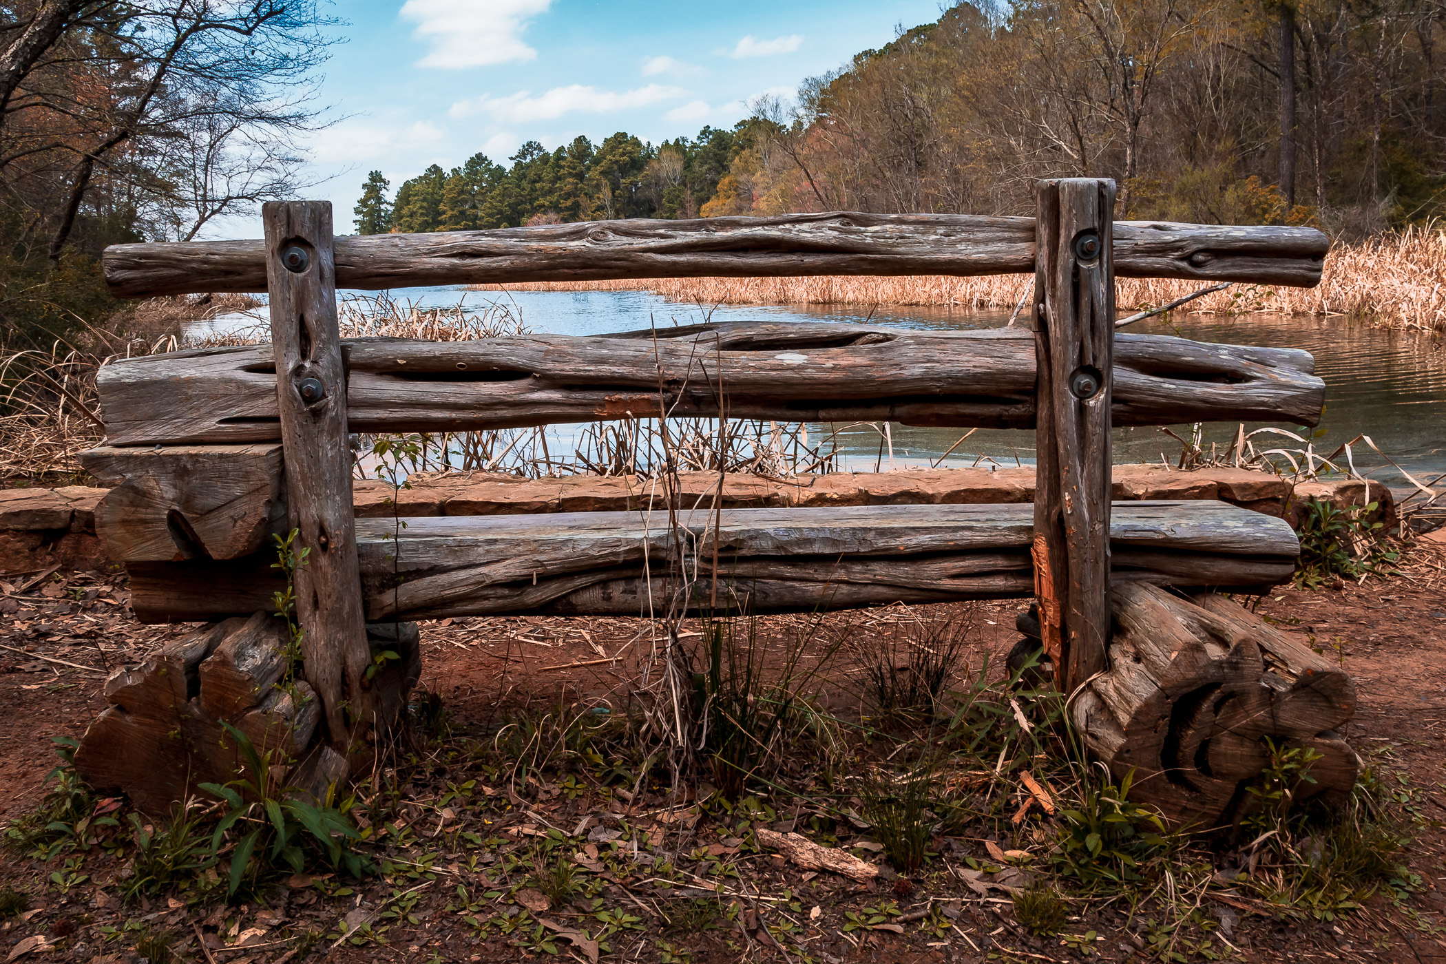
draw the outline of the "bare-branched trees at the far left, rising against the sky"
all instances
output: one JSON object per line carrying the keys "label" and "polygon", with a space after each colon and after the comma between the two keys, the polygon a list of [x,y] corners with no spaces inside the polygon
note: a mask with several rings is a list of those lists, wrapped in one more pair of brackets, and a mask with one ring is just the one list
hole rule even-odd
{"label": "bare-branched trees at the far left, rising against the sky", "polygon": [[334,23],[317,0],[0,3],[0,350],[116,312],[107,244],[308,186]]}

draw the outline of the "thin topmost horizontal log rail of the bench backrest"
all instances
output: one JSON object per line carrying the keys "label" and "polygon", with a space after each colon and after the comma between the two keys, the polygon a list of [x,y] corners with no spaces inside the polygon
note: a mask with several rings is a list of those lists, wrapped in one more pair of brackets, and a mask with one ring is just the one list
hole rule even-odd
{"label": "thin topmost horizontal log rail of the bench backrest", "polygon": [[[1312,286],[1330,243],[1313,228],[1125,221],[1122,277]],[[1034,270],[1034,218],[829,211],[771,218],[591,221],[496,231],[340,237],[337,285],[408,288],[615,277],[1011,275]],[[117,298],[266,291],[262,241],[116,244]]]}

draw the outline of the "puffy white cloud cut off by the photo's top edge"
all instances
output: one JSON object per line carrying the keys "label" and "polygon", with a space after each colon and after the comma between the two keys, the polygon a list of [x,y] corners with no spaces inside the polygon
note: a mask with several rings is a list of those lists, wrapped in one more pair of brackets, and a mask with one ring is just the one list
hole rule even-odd
{"label": "puffy white cloud cut off by the photo's top edge", "polygon": [[402,16],[416,22],[414,36],[431,43],[418,66],[455,71],[489,64],[531,61],[522,42],[528,20],[552,0],[406,0]]}

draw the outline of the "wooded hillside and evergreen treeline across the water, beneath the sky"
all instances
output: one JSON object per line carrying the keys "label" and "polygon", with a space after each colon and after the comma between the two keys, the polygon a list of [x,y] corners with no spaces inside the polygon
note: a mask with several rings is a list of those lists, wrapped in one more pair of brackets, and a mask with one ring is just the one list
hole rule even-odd
{"label": "wooded hillside and evergreen treeline across the water, beneath the sky", "polygon": [[401,184],[357,230],[617,217],[1032,211],[1111,176],[1116,217],[1316,223],[1359,237],[1446,208],[1442,0],[960,3],[733,130],[617,133]]}

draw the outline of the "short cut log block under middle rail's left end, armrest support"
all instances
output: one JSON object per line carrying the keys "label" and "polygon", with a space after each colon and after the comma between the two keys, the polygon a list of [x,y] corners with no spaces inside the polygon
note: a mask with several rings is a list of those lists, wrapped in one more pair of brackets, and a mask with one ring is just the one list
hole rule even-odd
{"label": "short cut log block under middle rail's left end, armrest support", "polygon": [[237,559],[286,522],[279,444],[100,447],[81,465],[114,486],[95,507],[106,555],[124,561]]}

